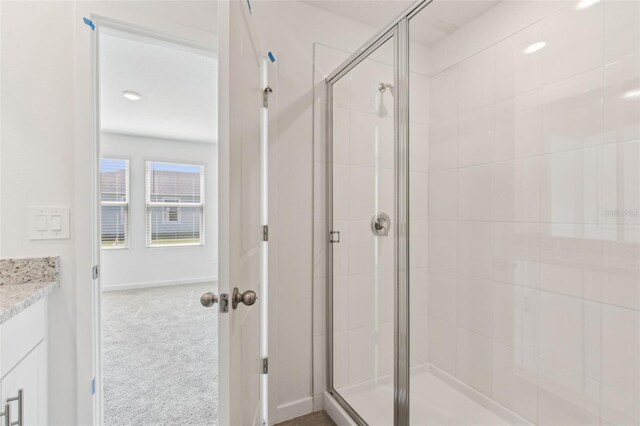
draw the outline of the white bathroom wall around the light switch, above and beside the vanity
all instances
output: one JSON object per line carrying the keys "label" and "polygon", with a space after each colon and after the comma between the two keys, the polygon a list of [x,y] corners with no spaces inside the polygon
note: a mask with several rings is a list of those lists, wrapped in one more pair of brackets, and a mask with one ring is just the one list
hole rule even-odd
{"label": "white bathroom wall around the light switch, above and beside the vanity", "polygon": [[[70,425],[76,423],[77,390],[74,244],[82,231],[72,220],[70,239],[31,241],[26,213],[31,205],[53,205],[72,207],[76,215],[73,3],[3,1],[0,8],[0,247],[4,257],[60,256],[62,288],[49,298],[49,416],[52,425]],[[89,285],[89,269],[85,274]]]}

